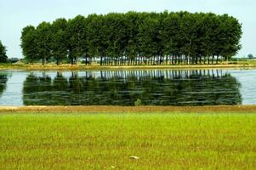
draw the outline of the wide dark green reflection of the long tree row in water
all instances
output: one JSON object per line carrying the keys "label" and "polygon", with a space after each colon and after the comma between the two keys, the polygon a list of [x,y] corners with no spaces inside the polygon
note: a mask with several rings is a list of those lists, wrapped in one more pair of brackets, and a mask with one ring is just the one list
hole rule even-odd
{"label": "wide dark green reflection of the long tree row in water", "polygon": [[71,77],[30,75],[25,105],[239,105],[240,84],[220,71],[101,71]]}

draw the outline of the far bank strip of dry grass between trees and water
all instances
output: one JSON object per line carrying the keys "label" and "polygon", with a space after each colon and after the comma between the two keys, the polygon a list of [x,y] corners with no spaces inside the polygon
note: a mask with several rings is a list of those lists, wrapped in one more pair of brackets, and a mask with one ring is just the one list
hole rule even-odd
{"label": "far bank strip of dry grass between trees and water", "polygon": [[82,70],[134,70],[134,69],[214,69],[214,68],[256,68],[254,61],[236,62],[236,64],[220,64],[220,65],[0,65],[0,70],[39,70],[39,71],[82,71]]}

